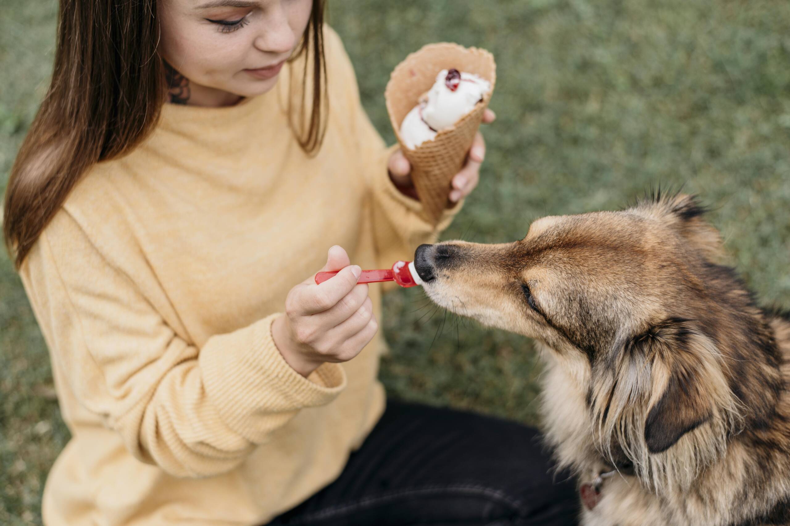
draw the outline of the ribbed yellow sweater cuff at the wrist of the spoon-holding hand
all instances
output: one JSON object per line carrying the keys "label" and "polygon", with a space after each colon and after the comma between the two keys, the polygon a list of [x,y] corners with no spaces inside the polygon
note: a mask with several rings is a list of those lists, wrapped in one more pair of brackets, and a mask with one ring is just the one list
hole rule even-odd
{"label": "ribbed yellow sweater cuff at the wrist of the spoon-holding hand", "polygon": [[272,338],[277,316],[213,336],[198,356],[206,392],[220,417],[256,444],[299,409],[325,405],[346,386],[338,364],[324,363],[307,378],[288,365]]}

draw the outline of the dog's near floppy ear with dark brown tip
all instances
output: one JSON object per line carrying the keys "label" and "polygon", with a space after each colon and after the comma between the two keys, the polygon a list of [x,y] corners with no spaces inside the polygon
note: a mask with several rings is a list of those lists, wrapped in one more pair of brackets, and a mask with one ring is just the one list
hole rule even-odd
{"label": "dog's near floppy ear with dark brown tip", "polygon": [[633,345],[653,362],[645,443],[651,453],[664,452],[712,417],[709,389],[717,390],[720,383],[713,365],[717,351],[689,320],[678,318],[656,324]]}

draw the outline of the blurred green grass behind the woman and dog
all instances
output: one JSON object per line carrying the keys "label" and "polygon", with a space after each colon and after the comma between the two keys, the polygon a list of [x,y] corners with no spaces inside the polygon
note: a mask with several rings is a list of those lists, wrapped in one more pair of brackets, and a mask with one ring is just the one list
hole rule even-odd
{"label": "blurred green grass behind the woman and dog", "polygon": [[[54,53],[57,2],[0,6],[0,191]],[[443,239],[523,237],[546,214],[625,206],[684,184],[713,206],[732,263],[766,305],[790,307],[790,2],[787,0],[329,0],[363,104],[388,142],[390,70],[435,41],[498,64],[480,187]],[[331,72],[330,72],[331,73]],[[391,395],[538,423],[531,343],[386,297]],[[435,339],[434,339],[435,335]],[[0,524],[40,524],[69,433],[47,349],[0,253]]]}

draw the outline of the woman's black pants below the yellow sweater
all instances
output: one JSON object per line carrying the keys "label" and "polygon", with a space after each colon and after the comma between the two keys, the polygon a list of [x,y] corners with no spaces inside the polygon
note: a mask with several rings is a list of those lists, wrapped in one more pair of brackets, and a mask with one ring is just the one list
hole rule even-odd
{"label": "woman's black pants below the yellow sweater", "polygon": [[527,426],[388,400],[340,477],[269,524],[577,524],[576,486],[551,465]]}

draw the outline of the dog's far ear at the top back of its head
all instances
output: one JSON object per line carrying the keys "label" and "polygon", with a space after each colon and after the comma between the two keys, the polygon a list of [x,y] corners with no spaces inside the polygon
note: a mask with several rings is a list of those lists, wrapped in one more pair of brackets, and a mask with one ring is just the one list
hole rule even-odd
{"label": "dog's far ear at the top back of its head", "polygon": [[713,263],[720,263],[724,258],[719,231],[705,221],[708,210],[696,195],[667,194],[659,190],[649,199],[639,202],[633,210],[656,218],[674,229]]}

